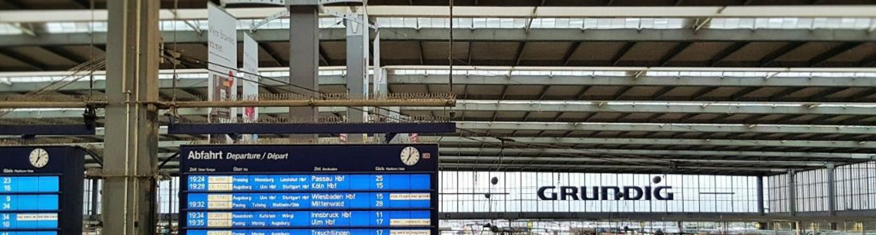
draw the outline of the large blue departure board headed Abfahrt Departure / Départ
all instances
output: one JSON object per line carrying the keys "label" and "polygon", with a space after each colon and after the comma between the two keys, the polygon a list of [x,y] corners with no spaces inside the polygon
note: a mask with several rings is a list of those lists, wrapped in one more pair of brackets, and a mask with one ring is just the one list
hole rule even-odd
{"label": "large blue departure board headed Abfahrt Departure / D\u00e9part", "polygon": [[188,235],[437,235],[438,147],[180,147]]}

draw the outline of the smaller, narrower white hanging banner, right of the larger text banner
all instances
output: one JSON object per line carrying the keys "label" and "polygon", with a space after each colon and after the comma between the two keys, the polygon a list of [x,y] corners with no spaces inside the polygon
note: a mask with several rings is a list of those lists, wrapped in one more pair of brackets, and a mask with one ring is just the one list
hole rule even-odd
{"label": "smaller, narrower white hanging banner, right of the larger text banner", "polygon": [[[244,100],[258,100],[258,44],[249,33],[244,33]],[[258,121],[258,107],[244,107],[244,122]],[[244,135],[244,142],[256,142],[258,135]]]}

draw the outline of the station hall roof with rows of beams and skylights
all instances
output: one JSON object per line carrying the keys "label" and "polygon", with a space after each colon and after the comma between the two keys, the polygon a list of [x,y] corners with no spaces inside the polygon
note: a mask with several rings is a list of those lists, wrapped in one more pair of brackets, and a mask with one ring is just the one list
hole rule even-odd
{"label": "station hall roof with rows of beams and skylights", "polygon": [[[711,6],[719,2],[731,6]],[[82,10],[82,3],[88,1],[0,1],[5,10],[0,14],[0,97],[46,86],[54,86],[50,94],[102,94],[102,72],[95,73],[94,84],[89,73],[59,72],[103,57],[105,10]],[[103,2],[96,3],[101,8]],[[876,9],[870,6],[767,0],[456,1],[462,7],[454,26],[451,76],[449,22],[441,10],[427,6],[442,3],[370,3],[373,21],[383,26],[381,57],[390,92],[456,93],[459,99],[453,108],[400,109],[417,116],[454,113],[449,120],[457,122],[457,133],[420,139],[442,145],[442,169],[774,175],[876,159]],[[165,53],[183,55],[176,88],[173,66],[161,66],[164,100],[195,100],[207,93],[207,36],[200,31],[208,24],[201,17],[204,10],[194,9],[204,4],[180,0],[180,9],[188,10],[163,14]],[[737,6],[743,4],[780,6]],[[420,10],[399,10],[404,5]],[[557,5],[584,11],[550,8]],[[598,7],[584,7],[590,5]],[[230,9],[244,18],[241,33],[275,10]],[[490,13],[472,13],[479,10]],[[261,93],[286,93],[280,81],[288,76],[282,67],[292,50],[286,42],[288,24],[277,20],[252,32],[260,46],[261,74],[275,79],[265,79]],[[343,24],[323,17],[321,38],[320,90],[343,93]],[[0,123],[71,123],[81,120],[81,112],[17,109]],[[283,108],[260,112],[268,118],[287,116]],[[324,107],[320,113],[343,116],[345,108]],[[205,120],[206,114],[180,109],[193,121]],[[102,131],[38,139],[100,149]],[[180,144],[205,138],[162,131],[162,160]],[[279,136],[263,136],[273,137]],[[325,135],[321,141],[337,138]]]}

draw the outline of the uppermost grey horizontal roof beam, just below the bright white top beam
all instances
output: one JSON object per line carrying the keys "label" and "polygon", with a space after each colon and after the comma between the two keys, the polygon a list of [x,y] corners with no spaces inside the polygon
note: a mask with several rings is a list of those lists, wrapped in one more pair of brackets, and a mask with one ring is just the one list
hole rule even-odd
{"label": "uppermost grey horizontal roof beam, just below the bright white top beam", "polygon": [[[449,39],[449,29],[440,28],[389,28],[397,33],[384,33],[380,35],[382,41],[446,41]],[[696,34],[690,30],[661,30],[661,29],[618,29],[618,30],[593,30],[581,33],[580,29],[532,29],[526,34],[524,29],[472,29],[466,31],[454,31],[454,40],[460,42],[738,42],[738,41],[767,41],[767,42],[794,42],[794,45],[803,42],[838,41],[838,42],[865,42],[876,40],[876,35],[858,30],[710,30],[703,29]],[[174,31],[162,31],[165,38],[173,38]],[[201,44],[207,42],[207,35],[199,35],[196,31],[175,31],[178,44]],[[244,31],[238,31],[244,33]],[[344,29],[321,29],[321,41],[343,41]],[[43,33],[36,37],[29,35],[4,35],[0,38],[0,46],[28,46],[28,45],[89,45],[94,43],[102,45],[106,43],[105,32],[89,33]],[[253,35],[253,38],[262,43],[284,42],[289,38],[289,33],[280,29],[263,29]],[[625,47],[626,47],[625,46]],[[784,47],[783,47],[784,48]],[[623,49],[623,48],[622,48]],[[781,48],[780,48],[781,49]],[[793,49],[793,48],[792,48]],[[621,50],[623,51],[623,50]],[[781,52],[781,51],[779,51]],[[622,54],[619,53],[618,54]],[[774,57],[781,56],[781,53]],[[761,61],[769,62],[771,59]],[[613,60],[612,60],[613,62]]]}

